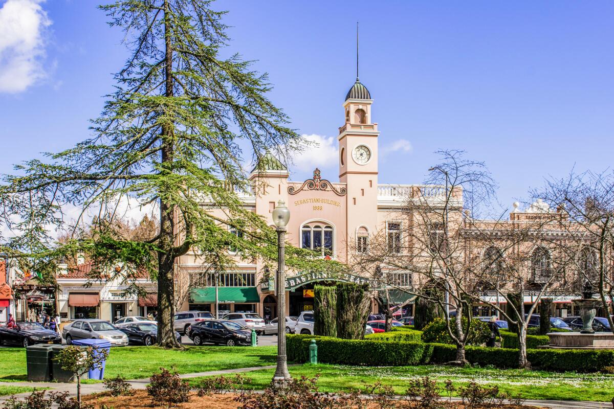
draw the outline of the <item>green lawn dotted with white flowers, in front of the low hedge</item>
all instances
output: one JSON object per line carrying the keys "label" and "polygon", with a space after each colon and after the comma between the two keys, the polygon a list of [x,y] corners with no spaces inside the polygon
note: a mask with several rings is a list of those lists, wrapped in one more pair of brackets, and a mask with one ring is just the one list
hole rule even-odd
{"label": "green lawn dotted with white flowers, in front of the low hedge", "polygon": [[[503,392],[521,395],[524,399],[595,400],[609,402],[614,396],[614,375],[600,373],[555,373],[518,369],[457,368],[436,365],[415,367],[354,367],[344,365],[291,366],[293,377],[313,377],[320,373],[318,386],[322,392],[349,391],[363,383],[382,381],[391,385],[397,394],[408,388],[408,381],[431,377],[443,387],[452,380],[456,386],[475,380],[483,386],[498,385]],[[251,387],[264,389],[274,370],[257,370],[243,375],[252,379]],[[201,378],[190,379],[192,385]],[[442,393],[443,395],[443,393]]]}

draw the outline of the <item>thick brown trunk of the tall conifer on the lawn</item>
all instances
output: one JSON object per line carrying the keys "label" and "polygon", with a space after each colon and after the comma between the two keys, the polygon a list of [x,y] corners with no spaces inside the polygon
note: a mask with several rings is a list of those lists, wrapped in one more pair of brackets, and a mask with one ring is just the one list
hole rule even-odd
{"label": "thick brown trunk of the tall conifer on the lawn", "polygon": [[[169,4],[164,2],[165,27],[165,96],[173,96],[173,45],[169,22]],[[173,162],[173,127],[165,123],[161,130],[163,169],[169,172]],[[172,187],[171,187],[172,189]],[[174,261],[175,214],[173,205],[160,199],[160,242],[158,251],[158,345],[165,348],[181,348],[175,338],[174,318]]]}

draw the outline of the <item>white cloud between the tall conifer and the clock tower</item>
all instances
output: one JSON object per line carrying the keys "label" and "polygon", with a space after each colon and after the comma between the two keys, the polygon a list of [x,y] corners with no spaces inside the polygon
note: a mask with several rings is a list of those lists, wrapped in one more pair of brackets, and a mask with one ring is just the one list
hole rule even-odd
{"label": "white cloud between the tall conifer and the clock tower", "polygon": [[303,138],[313,143],[306,147],[305,150],[294,155],[294,167],[292,170],[311,172],[316,167],[330,168],[338,166],[339,147],[335,138],[316,134],[303,135]]}

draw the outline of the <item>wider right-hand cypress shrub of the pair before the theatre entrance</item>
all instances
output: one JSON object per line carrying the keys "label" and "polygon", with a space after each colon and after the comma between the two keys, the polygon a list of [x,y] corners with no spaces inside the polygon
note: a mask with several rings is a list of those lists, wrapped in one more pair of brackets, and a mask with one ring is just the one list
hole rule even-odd
{"label": "wider right-hand cypress shrub of the pair before the theatre entrance", "polygon": [[367,285],[340,283],[336,285],[337,337],[360,340],[365,337],[365,324],[371,309]]}

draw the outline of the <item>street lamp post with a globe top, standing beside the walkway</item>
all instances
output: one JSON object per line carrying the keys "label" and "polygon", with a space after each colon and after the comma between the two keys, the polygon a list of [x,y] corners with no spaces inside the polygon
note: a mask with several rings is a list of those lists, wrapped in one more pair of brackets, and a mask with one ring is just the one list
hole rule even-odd
{"label": "street lamp post with a globe top, standing beside the walkway", "polygon": [[273,210],[273,223],[277,231],[277,368],[273,375],[273,384],[276,388],[286,388],[290,380],[286,357],[286,273],[284,272],[286,226],[290,220],[290,210],[286,203],[280,200]]}

